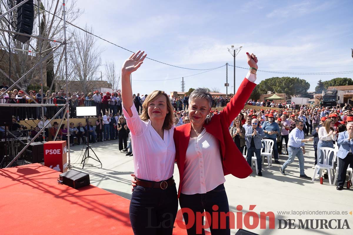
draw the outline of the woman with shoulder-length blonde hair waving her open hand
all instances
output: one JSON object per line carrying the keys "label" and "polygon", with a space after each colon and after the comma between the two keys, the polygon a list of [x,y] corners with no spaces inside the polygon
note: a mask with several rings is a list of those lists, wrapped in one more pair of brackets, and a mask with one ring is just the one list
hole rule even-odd
{"label": "woman with shoulder-length blonde hair waving her open hand", "polygon": [[130,202],[134,234],[170,234],[178,210],[173,172],[173,106],[163,91],[149,94],[141,116],[132,102],[130,74],[143,63],[144,51],[132,54],[121,68],[121,97],[124,117],[130,129],[136,187]]}

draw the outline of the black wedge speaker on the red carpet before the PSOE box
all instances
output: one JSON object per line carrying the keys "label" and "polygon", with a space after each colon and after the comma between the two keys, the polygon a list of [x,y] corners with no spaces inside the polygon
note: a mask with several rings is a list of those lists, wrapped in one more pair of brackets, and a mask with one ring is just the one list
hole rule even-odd
{"label": "black wedge speaker on the red carpet before the PSOE box", "polygon": [[70,186],[72,188],[80,188],[90,184],[89,174],[79,172],[76,170],[70,170],[59,175],[62,184]]}

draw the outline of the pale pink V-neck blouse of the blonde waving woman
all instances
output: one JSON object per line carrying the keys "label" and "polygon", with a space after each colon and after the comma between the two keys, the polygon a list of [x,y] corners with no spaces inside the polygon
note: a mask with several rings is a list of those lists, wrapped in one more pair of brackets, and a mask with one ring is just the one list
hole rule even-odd
{"label": "pale pink V-neck blouse of the blonde waving woman", "polygon": [[175,162],[174,126],[164,130],[164,138],[158,135],[151,120],[144,122],[138,116],[135,105],[132,117],[122,105],[122,112],[131,134],[135,175],[150,181],[167,180],[173,176]]}

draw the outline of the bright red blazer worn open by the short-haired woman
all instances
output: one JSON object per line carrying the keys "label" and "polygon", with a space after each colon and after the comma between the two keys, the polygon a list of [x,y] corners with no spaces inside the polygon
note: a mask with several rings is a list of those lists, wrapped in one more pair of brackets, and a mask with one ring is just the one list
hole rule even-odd
{"label": "bright red blazer worn open by the short-haired woman", "polygon": [[[229,134],[229,125],[243,109],[246,100],[249,99],[256,84],[246,78],[241,83],[237,94],[229,101],[227,106],[218,115],[213,115],[209,124],[204,124],[206,131],[213,135],[220,142],[222,166],[224,175],[232,174],[238,178],[246,178],[252,173],[252,169],[235,145],[232,136]],[[177,126],[174,130],[175,160],[179,168],[179,190],[184,175],[185,155],[190,140],[191,123]]]}

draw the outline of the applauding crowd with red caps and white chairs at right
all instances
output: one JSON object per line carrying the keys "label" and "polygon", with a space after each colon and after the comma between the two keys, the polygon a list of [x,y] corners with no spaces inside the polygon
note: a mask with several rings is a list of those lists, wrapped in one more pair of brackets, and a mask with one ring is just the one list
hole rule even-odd
{"label": "applauding crowd with red caps and white chairs at right", "polygon": [[[315,163],[312,168],[315,168],[317,163],[323,163],[323,153],[318,151],[321,147],[341,148],[343,142],[340,139],[340,134],[347,132],[348,136],[351,133],[348,126],[353,126],[352,106],[345,104],[343,107],[301,107],[298,110],[286,109],[243,109],[239,116],[234,119],[230,128],[230,134],[237,144],[238,149],[246,152],[247,161],[251,165],[251,158],[255,153],[258,164],[258,175],[261,173],[261,153],[263,148],[261,140],[269,139],[274,142],[273,155],[275,163],[281,164],[278,159],[279,154],[288,155],[288,160],[281,166],[281,174],[285,175],[286,167],[293,162],[294,157],[297,156],[299,160],[300,177],[311,179],[304,173],[304,156],[305,142],[314,141]],[[305,138],[305,136],[312,135],[313,138]],[[353,134],[353,133],[352,133]],[[353,136],[352,136],[353,137]],[[348,138],[348,137],[346,137]],[[285,145],[285,148],[282,147]],[[351,154],[351,153],[349,153]],[[329,165],[332,164],[332,156],[329,158]],[[337,154],[338,156],[338,154]],[[351,159],[352,157],[349,157]],[[339,180],[337,183],[337,190],[341,190],[345,183],[345,174],[347,169],[347,162],[343,162],[338,158],[341,166]],[[334,163],[336,164],[336,163]],[[351,163],[353,165],[353,162]],[[343,176],[344,175],[344,176]],[[319,178],[319,171],[316,172],[316,177]]]}

